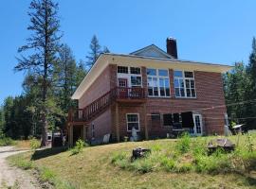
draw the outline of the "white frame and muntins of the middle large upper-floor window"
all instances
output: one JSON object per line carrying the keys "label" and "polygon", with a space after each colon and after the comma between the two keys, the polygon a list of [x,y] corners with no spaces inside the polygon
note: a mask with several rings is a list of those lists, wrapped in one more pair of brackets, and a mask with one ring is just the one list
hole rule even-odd
{"label": "white frame and muntins of the middle large upper-floor window", "polygon": [[[154,78],[156,78],[156,87],[157,87],[157,93],[158,95],[154,94],[154,87],[153,87],[153,95],[148,94],[149,97],[161,97],[161,98],[170,98],[171,97],[171,86],[170,86],[170,75],[169,75],[169,69],[164,68],[146,68],[148,69],[154,69],[156,72],[155,76],[148,75],[147,74],[147,87],[149,87],[149,77],[151,77],[152,81]],[[159,70],[165,70],[167,71],[167,76],[159,76]],[[160,95],[160,78],[164,79],[164,93],[165,95]],[[165,86],[165,79],[168,79],[169,86]],[[166,95],[166,88],[169,88],[169,95]]]}

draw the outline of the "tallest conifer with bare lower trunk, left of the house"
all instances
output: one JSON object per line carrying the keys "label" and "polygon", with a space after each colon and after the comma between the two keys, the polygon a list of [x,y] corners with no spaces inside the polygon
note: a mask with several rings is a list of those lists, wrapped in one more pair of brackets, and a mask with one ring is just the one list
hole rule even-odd
{"label": "tallest conifer with bare lower trunk, left of the house", "polygon": [[15,67],[17,71],[29,70],[42,77],[42,83],[40,83],[42,146],[46,146],[47,94],[52,84],[52,68],[56,63],[56,53],[62,37],[59,33],[58,9],[58,4],[52,0],[32,0],[28,12],[30,25],[27,27],[32,34],[27,39],[27,44],[18,50],[20,53],[27,51],[28,55],[22,55]]}

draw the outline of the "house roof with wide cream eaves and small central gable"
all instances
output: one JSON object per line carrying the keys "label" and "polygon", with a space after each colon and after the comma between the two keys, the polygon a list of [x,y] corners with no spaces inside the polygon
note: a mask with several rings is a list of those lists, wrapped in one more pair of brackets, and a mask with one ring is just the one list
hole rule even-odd
{"label": "house roof with wide cream eaves and small central gable", "polygon": [[[159,56],[148,56],[148,53],[155,53]],[[147,56],[145,56],[147,55]],[[204,71],[215,73],[226,73],[232,66],[221,63],[208,63],[192,60],[176,60],[163,50],[151,44],[141,48],[129,55],[104,53],[99,56],[88,74],[83,78],[80,86],[72,95],[72,99],[80,99],[82,94],[91,86],[94,80],[101,75],[103,70],[109,64],[126,65],[126,66],[145,66],[152,68],[170,68],[187,71]]]}

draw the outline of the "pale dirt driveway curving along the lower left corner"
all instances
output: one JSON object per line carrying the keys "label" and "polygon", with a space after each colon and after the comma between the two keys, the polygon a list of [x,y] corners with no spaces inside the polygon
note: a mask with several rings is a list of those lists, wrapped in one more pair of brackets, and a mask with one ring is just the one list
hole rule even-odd
{"label": "pale dirt driveway curving along the lower left corner", "polygon": [[13,146],[0,146],[0,188],[34,189],[41,188],[29,173],[7,163],[6,158],[10,155],[24,152]]}

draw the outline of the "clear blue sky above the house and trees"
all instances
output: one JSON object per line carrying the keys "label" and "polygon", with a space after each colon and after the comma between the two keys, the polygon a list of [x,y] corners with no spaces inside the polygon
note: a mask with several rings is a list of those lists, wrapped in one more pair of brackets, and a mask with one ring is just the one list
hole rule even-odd
{"label": "clear blue sky above the house and trees", "polygon": [[[1,0],[0,104],[22,93],[23,73],[14,73],[17,48],[26,43],[29,0]],[[93,34],[111,52],[130,53],[177,40],[178,56],[232,64],[247,62],[256,35],[255,0],[59,0],[63,42],[84,60]]]}

